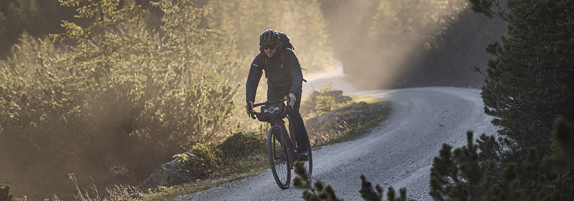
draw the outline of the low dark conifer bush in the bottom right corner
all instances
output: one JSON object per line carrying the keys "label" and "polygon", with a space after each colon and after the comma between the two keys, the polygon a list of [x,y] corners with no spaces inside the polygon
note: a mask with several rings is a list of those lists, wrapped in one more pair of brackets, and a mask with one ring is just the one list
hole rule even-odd
{"label": "low dark conifer bush in the bottom right corner", "polygon": [[[536,147],[522,161],[511,161],[493,181],[491,163],[478,160],[477,145],[451,151],[444,145],[430,172],[430,195],[437,200],[572,200],[574,199],[574,130],[569,120],[556,119],[552,155],[540,157]],[[544,167],[544,169],[542,169]]]}

